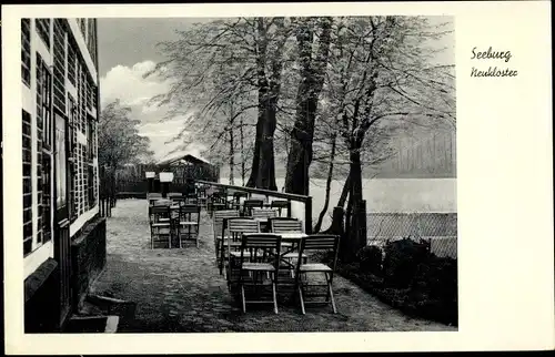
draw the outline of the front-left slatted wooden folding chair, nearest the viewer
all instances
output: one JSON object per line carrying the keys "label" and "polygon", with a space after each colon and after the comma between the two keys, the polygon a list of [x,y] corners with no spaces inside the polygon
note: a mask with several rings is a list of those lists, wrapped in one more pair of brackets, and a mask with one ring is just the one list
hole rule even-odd
{"label": "front-left slatted wooden folding chair, nearest the viewer", "polygon": [[[278,314],[278,274],[280,271],[280,245],[281,236],[271,233],[250,233],[242,235],[241,257],[239,261],[239,286],[241,288],[241,303],[243,313],[246,313],[246,303],[273,304],[274,313]],[[248,282],[245,273],[253,277]],[[272,300],[252,299],[246,300],[244,287],[251,285],[256,287],[259,273],[265,273],[272,284]],[[264,274],[262,274],[264,276]]]}

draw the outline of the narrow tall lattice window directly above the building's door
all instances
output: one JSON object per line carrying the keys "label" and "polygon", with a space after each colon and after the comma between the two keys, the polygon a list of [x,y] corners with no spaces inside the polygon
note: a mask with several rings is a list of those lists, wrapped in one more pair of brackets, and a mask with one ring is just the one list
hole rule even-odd
{"label": "narrow tall lattice window directly above the building's door", "polygon": [[54,106],[65,113],[65,29],[54,20]]}

